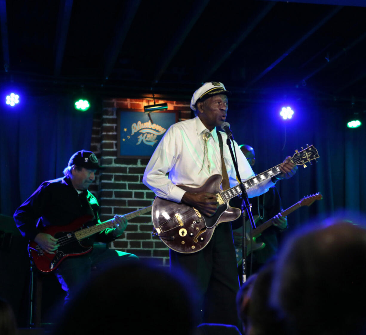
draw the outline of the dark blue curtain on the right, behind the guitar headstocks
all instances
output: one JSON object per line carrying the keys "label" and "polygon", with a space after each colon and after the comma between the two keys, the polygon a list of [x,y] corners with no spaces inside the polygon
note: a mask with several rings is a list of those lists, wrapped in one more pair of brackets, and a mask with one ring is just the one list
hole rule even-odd
{"label": "dark blue curtain on the right, behind the guitar headstocks", "polygon": [[299,166],[296,175],[277,182],[283,208],[307,195],[321,192],[323,200],[302,207],[288,216],[292,227],[324,218],[339,211],[365,212],[366,124],[346,127],[346,112],[337,108],[300,105],[292,120],[279,118],[280,105],[230,106],[227,121],[239,144],[251,145],[256,154],[255,173],[272,168],[285,156],[294,155],[306,144],[314,145],[320,158],[307,168]]}

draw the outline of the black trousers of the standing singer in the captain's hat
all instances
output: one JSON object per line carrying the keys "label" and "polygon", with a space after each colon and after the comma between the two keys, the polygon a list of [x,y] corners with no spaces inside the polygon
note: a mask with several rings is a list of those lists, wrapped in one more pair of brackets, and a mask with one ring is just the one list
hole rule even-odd
{"label": "black trousers of the standing singer in the captain's hat", "polygon": [[193,254],[170,251],[171,270],[182,269],[197,283],[202,306],[201,323],[238,326],[236,293],[239,290],[231,224],[216,226],[210,242]]}

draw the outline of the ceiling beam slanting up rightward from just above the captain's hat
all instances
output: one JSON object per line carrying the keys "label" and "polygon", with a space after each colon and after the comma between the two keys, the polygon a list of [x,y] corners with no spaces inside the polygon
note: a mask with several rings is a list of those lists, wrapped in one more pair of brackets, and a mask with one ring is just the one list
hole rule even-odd
{"label": "ceiling beam slanting up rightward from just above the captain's hat", "polygon": [[216,63],[212,66],[206,67],[198,76],[200,82],[209,80],[212,74],[221,66],[221,64],[230,57],[234,50],[247,38],[247,36],[253,31],[253,29],[262,21],[262,19],[269,13],[269,11],[275,6],[276,2],[269,3],[266,7],[247,25],[244,30],[239,34],[239,38],[225,51],[221,57],[217,58]]}

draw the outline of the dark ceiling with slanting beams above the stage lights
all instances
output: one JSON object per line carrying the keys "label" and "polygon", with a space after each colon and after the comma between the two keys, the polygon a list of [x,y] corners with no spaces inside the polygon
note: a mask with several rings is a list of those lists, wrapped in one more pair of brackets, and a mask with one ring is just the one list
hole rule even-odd
{"label": "dark ceiling with slanting beams above the stage lights", "polygon": [[1,84],[190,99],[215,80],[236,101],[366,101],[365,2],[0,0]]}

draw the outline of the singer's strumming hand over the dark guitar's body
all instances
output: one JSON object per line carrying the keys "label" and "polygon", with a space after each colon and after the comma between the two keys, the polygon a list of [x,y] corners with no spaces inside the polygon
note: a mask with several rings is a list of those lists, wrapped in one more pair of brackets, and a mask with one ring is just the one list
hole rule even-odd
{"label": "singer's strumming hand over the dark guitar's body", "polygon": [[206,216],[212,216],[219,208],[216,195],[209,192],[201,193],[184,193],[182,203],[196,208],[199,212]]}

